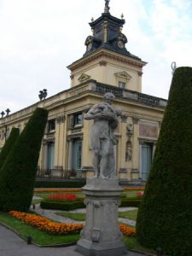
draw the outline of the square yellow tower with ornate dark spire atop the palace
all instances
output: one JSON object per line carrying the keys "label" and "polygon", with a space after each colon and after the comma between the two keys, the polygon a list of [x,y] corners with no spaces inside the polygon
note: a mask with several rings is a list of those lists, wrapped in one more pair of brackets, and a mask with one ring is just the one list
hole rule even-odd
{"label": "square yellow tower with ornate dark spire atop the palace", "polygon": [[118,19],[110,14],[108,2],[102,15],[90,22],[92,35],[85,39],[83,57],[68,66],[71,86],[93,79],[142,92],[143,66],[146,62],[126,49],[127,38],[122,32],[125,20],[123,15]]}

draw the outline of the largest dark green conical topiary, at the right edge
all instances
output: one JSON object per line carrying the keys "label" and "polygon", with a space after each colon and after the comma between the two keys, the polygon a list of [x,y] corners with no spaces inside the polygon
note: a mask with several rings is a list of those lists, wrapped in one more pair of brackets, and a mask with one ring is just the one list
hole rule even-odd
{"label": "largest dark green conical topiary, at the right edge", "polygon": [[137,215],[137,239],[172,256],[191,256],[191,232],[192,68],[179,67]]}

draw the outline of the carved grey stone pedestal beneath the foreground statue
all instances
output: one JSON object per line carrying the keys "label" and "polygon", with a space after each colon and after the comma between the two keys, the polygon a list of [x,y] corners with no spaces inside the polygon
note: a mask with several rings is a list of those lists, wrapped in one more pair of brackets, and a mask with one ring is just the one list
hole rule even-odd
{"label": "carved grey stone pedestal beneath the foreground statue", "polygon": [[120,256],[126,253],[118,224],[122,191],[118,178],[87,178],[83,188],[86,221],[76,251],[85,256]]}

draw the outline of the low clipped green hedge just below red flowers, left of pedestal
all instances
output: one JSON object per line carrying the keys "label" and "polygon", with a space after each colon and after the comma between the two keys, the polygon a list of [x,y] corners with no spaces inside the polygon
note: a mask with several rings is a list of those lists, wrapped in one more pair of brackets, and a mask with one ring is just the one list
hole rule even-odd
{"label": "low clipped green hedge just below red flowers, left of pedestal", "polygon": [[63,210],[63,211],[71,211],[75,209],[85,208],[84,200],[76,200],[76,201],[49,201],[44,200],[41,201],[40,207],[43,209],[52,209],[52,210]]}

